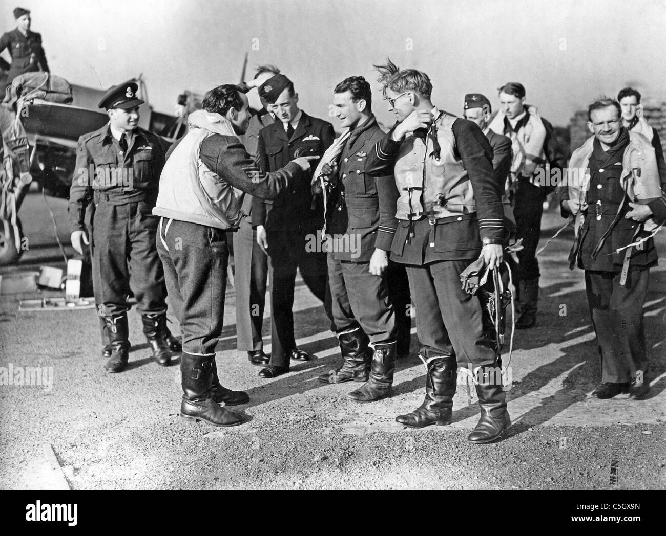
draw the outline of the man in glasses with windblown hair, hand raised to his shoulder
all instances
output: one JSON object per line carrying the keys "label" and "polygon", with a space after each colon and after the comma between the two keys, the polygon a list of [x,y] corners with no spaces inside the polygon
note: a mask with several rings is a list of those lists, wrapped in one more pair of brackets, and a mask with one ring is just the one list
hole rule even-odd
{"label": "man in glasses with windblown hair, hand raised to his shoulder", "polygon": [[376,66],[398,124],[368,156],[372,174],[394,172],[400,198],[391,258],[407,266],[420,358],[426,365],[423,404],[396,421],[410,428],[452,421],[458,360],[472,364],[481,419],[472,443],[498,438],[510,424],[493,336],[480,299],[462,290],[460,274],[483,257],[499,267],[503,209],[492,149],[476,124],[438,110],[424,72]]}

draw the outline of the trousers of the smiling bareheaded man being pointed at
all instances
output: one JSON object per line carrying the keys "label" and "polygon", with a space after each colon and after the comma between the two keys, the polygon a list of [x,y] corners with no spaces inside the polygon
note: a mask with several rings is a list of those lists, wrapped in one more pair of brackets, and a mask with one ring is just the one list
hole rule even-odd
{"label": "trousers of the smiling bareheaded man being pointed at", "polygon": [[333,322],[338,333],[360,325],[371,344],[394,340],[395,315],[388,300],[386,273],[368,271],[370,263],[336,261],[328,253]]}

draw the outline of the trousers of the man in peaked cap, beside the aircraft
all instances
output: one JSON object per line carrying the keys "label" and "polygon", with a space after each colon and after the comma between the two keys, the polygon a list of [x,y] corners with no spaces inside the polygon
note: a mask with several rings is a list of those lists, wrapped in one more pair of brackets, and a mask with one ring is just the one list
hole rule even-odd
{"label": "trousers of the man in peaked cap, beside the aircraft", "polygon": [[101,317],[129,310],[130,291],[142,314],[165,313],[165,279],[155,247],[158,218],[149,203],[113,204],[95,194],[93,217],[93,287]]}

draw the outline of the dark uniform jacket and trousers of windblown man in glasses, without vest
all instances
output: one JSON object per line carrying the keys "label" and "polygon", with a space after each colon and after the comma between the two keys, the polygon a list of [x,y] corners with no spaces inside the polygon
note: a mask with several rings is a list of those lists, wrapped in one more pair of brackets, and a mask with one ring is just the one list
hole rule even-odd
{"label": "dark uniform jacket and trousers of windblown man in glasses, without vest", "polygon": [[[480,299],[462,290],[460,273],[478,258],[482,238],[484,243],[503,243],[503,225],[497,225],[503,217],[500,186],[494,176],[492,149],[480,128],[457,118],[452,132],[455,157],[468,174],[476,209],[447,217],[422,215],[415,221],[399,220],[391,258],[407,265],[420,353],[426,358],[456,356],[459,363],[485,366],[496,362],[494,336],[484,329]],[[436,159],[430,134],[402,142],[392,140],[391,134],[388,132],[368,157],[374,174],[393,170],[402,144],[412,147],[402,158],[414,162]],[[399,185],[398,181],[396,176]],[[425,190],[428,184],[426,175],[420,188]]]}

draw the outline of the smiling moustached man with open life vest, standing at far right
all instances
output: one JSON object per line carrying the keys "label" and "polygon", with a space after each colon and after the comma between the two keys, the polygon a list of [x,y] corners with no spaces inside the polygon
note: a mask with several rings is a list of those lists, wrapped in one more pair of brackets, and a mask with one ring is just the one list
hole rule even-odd
{"label": "smiling moustached man with open life vest, standing at far right", "polygon": [[569,260],[585,270],[585,290],[601,359],[592,393],[640,399],[649,391],[643,305],[649,269],[657,265],[652,235],[666,221],[666,197],[650,142],[622,124],[620,105],[589,106],[594,136],[571,155],[560,189],[562,215],[579,216]]}

